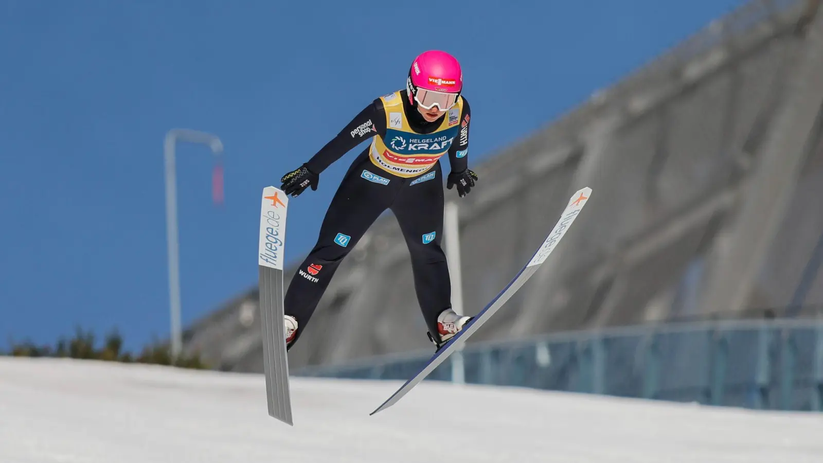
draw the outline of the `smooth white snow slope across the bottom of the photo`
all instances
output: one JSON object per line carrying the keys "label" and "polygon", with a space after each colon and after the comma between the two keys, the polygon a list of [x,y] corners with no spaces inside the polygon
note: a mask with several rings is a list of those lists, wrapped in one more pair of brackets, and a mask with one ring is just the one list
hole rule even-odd
{"label": "smooth white snow slope across the bottom of the photo", "polygon": [[424,381],[292,378],[294,428],[263,376],[0,358],[2,463],[823,461],[823,415]]}

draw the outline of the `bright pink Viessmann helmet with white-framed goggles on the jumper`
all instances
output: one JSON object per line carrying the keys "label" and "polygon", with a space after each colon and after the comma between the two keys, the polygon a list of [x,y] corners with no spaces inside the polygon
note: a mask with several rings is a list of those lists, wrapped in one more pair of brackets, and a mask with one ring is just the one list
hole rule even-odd
{"label": "bright pink Viessmann helmet with white-framed goggles on the jumper", "polygon": [[406,81],[409,102],[426,110],[435,105],[449,110],[463,90],[463,71],[452,55],[439,50],[426,51],[415,58]]}

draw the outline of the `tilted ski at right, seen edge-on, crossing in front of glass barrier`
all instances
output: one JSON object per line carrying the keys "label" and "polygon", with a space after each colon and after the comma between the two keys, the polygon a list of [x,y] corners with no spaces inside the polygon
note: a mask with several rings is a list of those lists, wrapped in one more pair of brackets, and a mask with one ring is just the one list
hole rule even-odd
{"label": "tilted ski at right, seen edge-on, crossing in front of glass barrier", "polygon": [[560,219],[557,221],[554,229],[552,229],[551,233],[546,236],[546,240],[543,241],[542,246],[537,249],[537,252],[532,255],[532,260],[529,260],[528,264],[526,264],[523,269],[520,269],[518,274],[514,276],[503,291],[495,296],[495,298],[492,299],[491,302],[477,314],[477,316],[469,321],[467,325],[463,327],[463,330],[460,330],[452,339],[449,339],[449,342],[444,344],[444,346],[430,358],[429,362],[427,362],[415,376],[412,376],[410,380],[406,381],[406,384],[401,386],[398,391],[389,397],[383,405],[380,405],[377,409],[371,412],[370,415],[376,414],[380,410],[388,409],[388,407],[396,404],[403,395],[406,395],[420,381],[423,381],[425,376],[428,376],[430,372],[433,372],[440,363],[443,363],[451,353],[457,350],[461,345],[465,344],[466,339],[471,336],[472,333],[477,331],[483,324],[485,324],[486,321],[488,321],[491,316],[493,316],[495,312],[498,311],[510,297],[512,297],[514,292],[517,292],[518,289],[523,286],[523,283],[526,283],[528,279],[532,277],[532,274],[537,272],[540,265],[546,261],[548,256],[551,254],[551,251],[555,249],[558,243],[560,243],[560,239],[565,235],[565,232],[569,230],[572,222],[574,222],[574,218],[579,215],[581,210],[583,210],[583,207],[591,194],[592,189],[588,187],[579,189],[576,193],[574,193],[574,195],[569,199],[569,203],[565,210],[562,214],[560,214]]}

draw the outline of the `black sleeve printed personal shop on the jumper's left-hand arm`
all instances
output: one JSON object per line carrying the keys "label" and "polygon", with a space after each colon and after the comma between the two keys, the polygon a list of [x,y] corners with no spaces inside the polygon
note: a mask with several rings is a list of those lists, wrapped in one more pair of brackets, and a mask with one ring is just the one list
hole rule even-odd
{"label": "black sleeve printed personal shop on the jumper's left-hand arm", "polygon": [[305,163],[305,166],[309,168],[309,171],[319,175],[365,139],[372,138],[374,135],[382,137],[385,133],[386,111],[383,101],[377,98],[361,110],[354,119],[351,119],[351,122],[346,124],[346,127],[337,133],[335,138],[326,143],[326,146],[320,148],[320,151]]}

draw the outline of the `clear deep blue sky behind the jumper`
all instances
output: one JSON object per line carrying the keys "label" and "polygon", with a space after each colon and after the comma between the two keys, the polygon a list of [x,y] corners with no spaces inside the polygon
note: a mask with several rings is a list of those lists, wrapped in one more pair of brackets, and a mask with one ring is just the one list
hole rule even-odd
{"label": "clear deep blue sky behind the jumper", "polygon": [[[76,325],[117,327],[128,349],[169,335],[169,129],[226,150],[216,206],[211,152],[177,149],[188,325],[256,284],[263,187],[402,88],[416,54],[463,64],[471,163],[741,3],[0,0],[0,349]],[[287,260],[314,245],[361,148],[291,202]]]}

